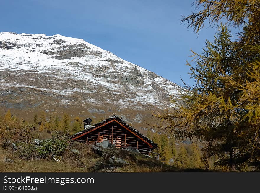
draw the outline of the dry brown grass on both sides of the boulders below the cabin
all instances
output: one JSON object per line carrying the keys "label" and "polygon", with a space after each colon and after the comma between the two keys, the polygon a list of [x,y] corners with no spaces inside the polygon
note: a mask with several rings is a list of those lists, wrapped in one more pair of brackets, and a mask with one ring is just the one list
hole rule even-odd
{"label": "dry brown grass on both sides of the boulders below the cabin", "polygon": [[[72,154],[71,149],[79,150],[79,154]],[[6,163],[4,158],[14,160]],[[172,166],[163,164],[150,157],[134,154],[128,151],[120,151],[119,157],[125,159],[129,165],[105,166],[98,172],[174,172],[178,171]],[[95,154],[91,146],[84,143],[72,143],[71,147],[63,154],[62,163],[50,159],[23,160],[12,149],[3,149],[0,146],[0,172],[95,172],[94,166],[102,158]]]}

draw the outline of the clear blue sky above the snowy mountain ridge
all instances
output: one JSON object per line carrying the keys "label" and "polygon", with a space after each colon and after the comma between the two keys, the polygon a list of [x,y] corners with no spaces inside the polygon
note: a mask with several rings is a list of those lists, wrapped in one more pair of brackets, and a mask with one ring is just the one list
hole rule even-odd
{"label": "clear blue sky above the snowy mountain ridge", "polygon": [[[182,85],[192,85],[186,60],[212,40],[180,24],[194,11],[193,0],[1,0],[0,31],[61,34],[81,38],[129,62]],[[206,25],[207,26],[207,25]]]}

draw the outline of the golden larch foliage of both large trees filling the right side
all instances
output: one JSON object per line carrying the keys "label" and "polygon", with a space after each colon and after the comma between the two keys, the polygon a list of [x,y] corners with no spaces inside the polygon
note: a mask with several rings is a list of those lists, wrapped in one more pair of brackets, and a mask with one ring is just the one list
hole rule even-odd
{"label": "golden larch foliage of both large trees filling the right side", "polygon": [[[184,83],[182,102],[172,98],[175,107],[156,116],[176,139],[203,141],[204,162],[217,156],[218,167],[259,169],[260,1],[197,0],[194,6],[196,12],[182,22],[198,33],[209,21],[217,25],[217,33],[202,54],[192,51],[187,65],[195,82]],[[241,29],[236,40],[229,25]]]}

